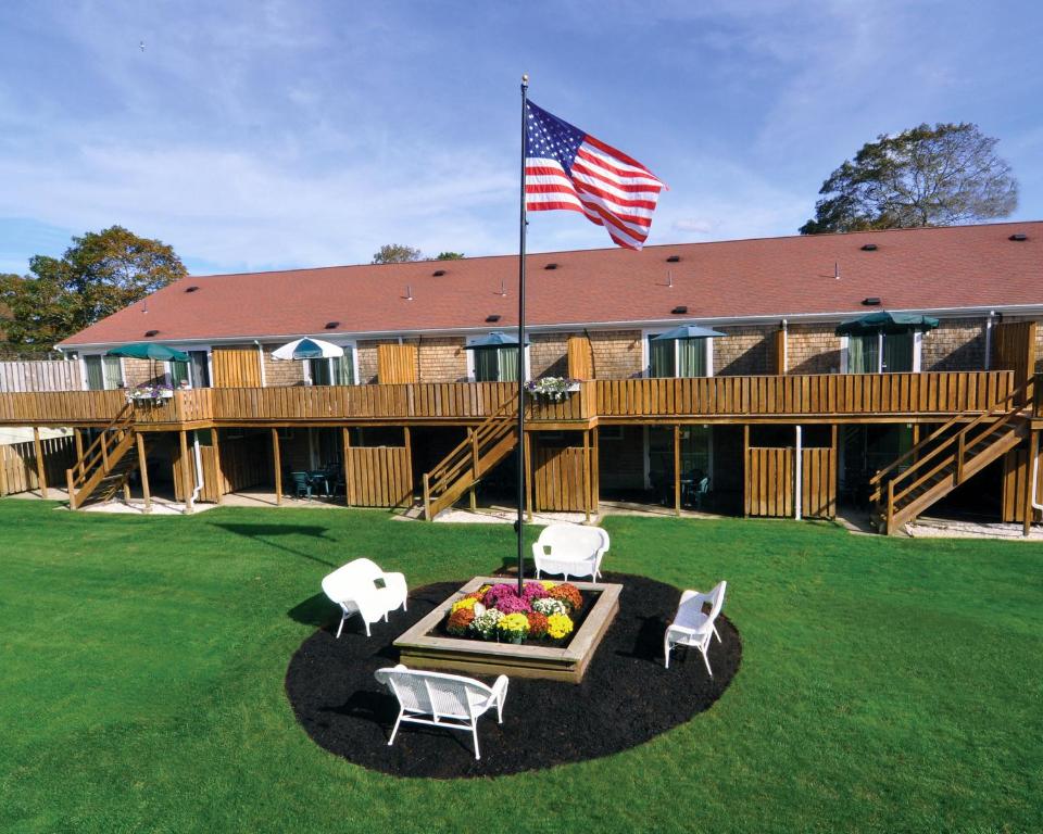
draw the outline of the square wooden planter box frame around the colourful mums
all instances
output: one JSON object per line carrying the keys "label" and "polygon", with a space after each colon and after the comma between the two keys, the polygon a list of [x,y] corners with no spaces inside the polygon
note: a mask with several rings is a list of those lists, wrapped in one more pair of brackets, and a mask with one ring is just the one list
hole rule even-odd
{"label": "square wooden planter box frame around the colourful mums", "polygon": [[[401,662],[409,667],[451,670],[467,674],[506,674],[516,678],[545,678],[579,683],[598,645],[619,611],[623,585],[573,582],[580,591],[598,591],[587,619],[563,648],[539,644],[514,645],[463,640],[435,634],[453,603],[482,585],[503,582],[503,577],[475,577],[427,617],[394,641]],[[510,580],[508,580],[510,581]]]}

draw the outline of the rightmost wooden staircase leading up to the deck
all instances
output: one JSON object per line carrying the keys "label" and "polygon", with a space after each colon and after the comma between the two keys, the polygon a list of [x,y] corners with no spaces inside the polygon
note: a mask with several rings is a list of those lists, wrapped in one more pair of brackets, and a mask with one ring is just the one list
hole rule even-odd
{"label": "rightmost wooden staircase leading up to the deck", "polygon": [[[892,535],[1028,434],[1028,386],[975,419],[959,414],[869,481],[877,529]],[[967,420],[970,419],[969,422]],[[904,467],[904,468],[903,468]]]}

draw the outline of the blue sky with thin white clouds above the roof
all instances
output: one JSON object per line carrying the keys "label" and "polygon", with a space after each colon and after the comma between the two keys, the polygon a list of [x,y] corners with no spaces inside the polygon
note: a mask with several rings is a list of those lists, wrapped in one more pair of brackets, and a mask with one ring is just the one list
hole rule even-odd
{"label": "blue sky with thin white clouds above the roof", "polygon": [[[649,243],[793,233],[920,122],[997,137],[1043,218],[1041,43],[1030,2],[8,0],[0,271],[112,224],[197,273],[515,252],[523,72],[670,186]],[[606,245],[531,216],[531,251]]]}

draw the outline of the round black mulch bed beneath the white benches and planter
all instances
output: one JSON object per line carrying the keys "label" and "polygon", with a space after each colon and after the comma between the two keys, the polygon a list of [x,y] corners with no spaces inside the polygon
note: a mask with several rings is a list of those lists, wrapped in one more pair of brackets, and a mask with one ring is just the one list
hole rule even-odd
{"label": "round black mulch bed beneath the white benches and planter", "polygon": [[[398,662],[392,642],[464,584],[442,582],[410,592],[410,610],[391,622],[336,622],[301,644],[286,673],[286,692],[307,734],[355,764],[399,776],[493,776],[583,761],[634,747],[711,707],[739,669],[742,642],[727,618],[717,620],[706,674],[696,649],[675,649],[663,667],[663,633],[680,591],[644,577],[605,574],[624,585],[619,614],[580,684],[512,678],[497,723],[495,709],[478,720],[481,759],[469,732],[403,724],[388,746],[398,702],[373,673]],[[727,602],[726,602],[727,605]],[[339,618],[338,618],[339,619]],[[490,679],[485,679],[491,683]]]}

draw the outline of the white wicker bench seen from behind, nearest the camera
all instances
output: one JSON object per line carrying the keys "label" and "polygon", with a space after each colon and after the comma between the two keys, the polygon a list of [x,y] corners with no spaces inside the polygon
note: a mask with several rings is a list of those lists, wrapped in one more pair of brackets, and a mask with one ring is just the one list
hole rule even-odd
{"label": "white wicker bench seen from behind, nearest the camera", "polygon": [[505,674],[497,678],[491,687],[473,678],[424,672],[407,669],[402,664],[393,669],[378,669],[375,677],[399,699],[399,717],[388,740],[389,747],[394,743],[399,725],[406,721],[448,730],[470,730],[475,741],[475,759],[480,759],[478,719],[495,706],[497,719],[503,723],[503,702],[507,697]]}

